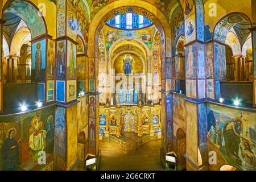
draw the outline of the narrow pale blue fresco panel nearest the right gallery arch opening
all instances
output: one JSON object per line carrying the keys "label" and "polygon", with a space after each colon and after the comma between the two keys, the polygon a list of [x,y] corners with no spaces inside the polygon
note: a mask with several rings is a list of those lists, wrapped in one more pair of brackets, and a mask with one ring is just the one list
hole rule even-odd
{"label": "narrow pale blue fresco panel nearest the right gallery arch opening", "polygon": [[217,80],[225,80],[226,78],[226,56],[225,56],[225,46],[221,44],[214,44],[215,53],[215,78]]}

